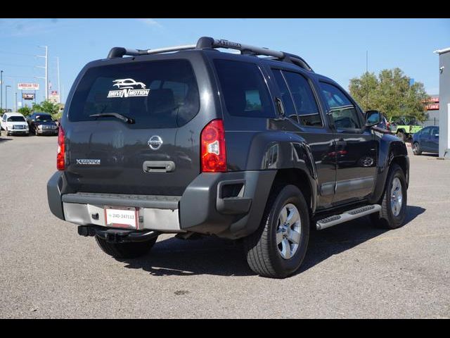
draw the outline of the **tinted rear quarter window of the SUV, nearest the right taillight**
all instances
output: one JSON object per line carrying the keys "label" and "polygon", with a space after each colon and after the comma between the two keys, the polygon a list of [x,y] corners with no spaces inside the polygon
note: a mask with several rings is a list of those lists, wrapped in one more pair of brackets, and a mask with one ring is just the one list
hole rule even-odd
{"label": "tinted rear quarter window of the SUV, nearest the right taillight", "polygon": [[248,118],[274,118],[269,89],[254,63],[214,60],[226,110],[230,115]]}

